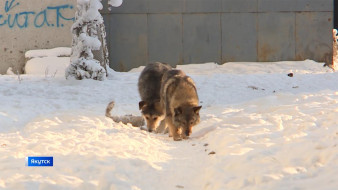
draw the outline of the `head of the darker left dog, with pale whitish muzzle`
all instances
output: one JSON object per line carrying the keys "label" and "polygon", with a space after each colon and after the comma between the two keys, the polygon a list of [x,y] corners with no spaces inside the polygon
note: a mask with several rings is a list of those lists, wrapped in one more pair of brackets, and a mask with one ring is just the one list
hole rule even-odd
{"label": "head of the darker left dog, with pale whitish muzzle", "polygon": [[139,109],[146,120],[149,132],[155,131],[164,119],[164,113],[160,101],[155,102],[139,102]]}

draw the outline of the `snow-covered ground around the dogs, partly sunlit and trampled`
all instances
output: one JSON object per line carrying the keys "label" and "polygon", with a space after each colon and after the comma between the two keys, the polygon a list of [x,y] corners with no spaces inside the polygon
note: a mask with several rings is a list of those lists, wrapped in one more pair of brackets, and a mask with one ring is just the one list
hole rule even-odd
{"label": "snow-covered ground around the dogs, partly sunlit and trampled", "polygon": [[142,67],[105,81],[1,75],[0,189],[337,189],[338,73],[322,65],[179,66],[203,106],[179,142],[104,116],[111,100],[112,114],[140,115]]}

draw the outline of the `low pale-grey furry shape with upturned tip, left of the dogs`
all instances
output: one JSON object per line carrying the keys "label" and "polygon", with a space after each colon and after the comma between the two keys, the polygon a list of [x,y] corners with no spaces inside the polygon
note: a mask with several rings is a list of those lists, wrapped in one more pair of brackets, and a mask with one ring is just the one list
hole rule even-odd
{"label": "low pale-grey furry shape with upturned tip, left of the dogs", "polygon": [[116,123],[122,122],[123,124],[130,123],[134,127],[141,127],[144,126],[145,122],[142,116],[135,116],[135,115],[124,115],[124,116],[112,116],[111,110],[114,108],[115,102],[112,101],[107,105],[106,108],[106,117],[111,118]]}

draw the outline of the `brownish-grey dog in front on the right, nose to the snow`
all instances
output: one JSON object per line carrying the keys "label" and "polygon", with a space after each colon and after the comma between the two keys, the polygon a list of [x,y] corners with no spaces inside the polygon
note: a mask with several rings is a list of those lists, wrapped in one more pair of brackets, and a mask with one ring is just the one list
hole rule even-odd
{"label": "brownish-grey dog in front on the right, nose to the snow", "polygon": [[162,78],[161,104],[169,136],[176,141],[188,138],[192,127],[200,122],[202,108],[194,81],[181,70],[166,72]]}

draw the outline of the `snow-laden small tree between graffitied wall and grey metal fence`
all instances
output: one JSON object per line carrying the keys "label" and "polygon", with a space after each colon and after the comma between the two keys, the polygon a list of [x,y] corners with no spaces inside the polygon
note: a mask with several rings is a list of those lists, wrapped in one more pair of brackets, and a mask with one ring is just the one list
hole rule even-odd
{"label": "snow-laden small tree between graffitied wall and grey metal fence", "polygon": [[104,80],[107,76],[106,32],[99,12],[102,8],[100,0],[77,0],[76,20],[71,29],[71,64],[66,69],[66,78]]}

